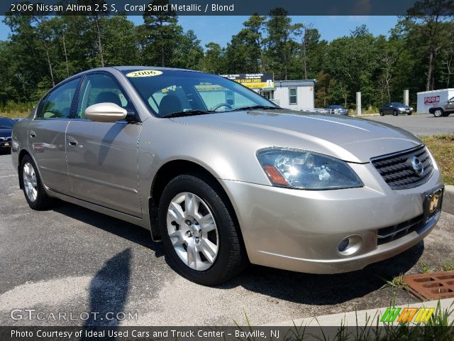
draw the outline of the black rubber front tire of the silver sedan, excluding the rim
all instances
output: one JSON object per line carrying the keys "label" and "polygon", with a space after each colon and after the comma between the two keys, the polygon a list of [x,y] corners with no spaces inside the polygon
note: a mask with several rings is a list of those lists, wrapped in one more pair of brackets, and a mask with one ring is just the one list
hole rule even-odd
{"label": "black rubber front tire of the silver sedan, excluding the rim", "polygon": [[[204,271],[191,269],[177,255],[167,231],[167,210],[180,193],[192,193],[209,207],[218,232],[218,254],[211,267]],[[160,198],[159,227],[165,254],[182,276],[204,286],[214,286],[236,276],[248,264],[245,247],[240,239],[236,219],[228,199],[218,184],[205,182],[194,175],[179,175],[168,183]],[[179,227],[181,228],[181,227]]]}

